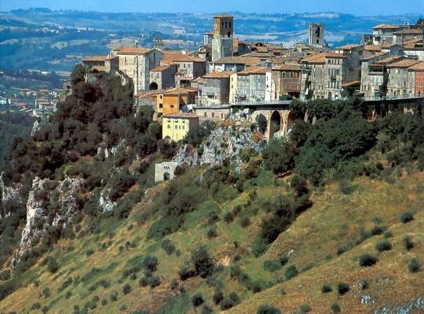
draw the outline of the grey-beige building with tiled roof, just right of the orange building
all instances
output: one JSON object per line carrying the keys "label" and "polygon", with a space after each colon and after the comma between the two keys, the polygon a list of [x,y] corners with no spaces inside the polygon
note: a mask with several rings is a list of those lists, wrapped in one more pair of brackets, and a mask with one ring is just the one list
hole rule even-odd
{"label": "grey-beige building with tiled roof, just right of the orange building", "polygon": [[201,105],[221,105],[229,103],[229,79],[234,72],[212,72],[204,75]]}

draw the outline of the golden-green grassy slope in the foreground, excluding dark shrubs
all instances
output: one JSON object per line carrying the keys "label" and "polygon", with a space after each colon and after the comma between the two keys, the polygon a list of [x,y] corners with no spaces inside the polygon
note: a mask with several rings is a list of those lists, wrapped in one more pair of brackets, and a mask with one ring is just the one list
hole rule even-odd
{"label": "golden-green grassy slope in the foreground, excluding dark shrubs", "polygon": [[[178,180],[197,178],[201,172],[191,170]],[[268,215],[264,201],[285,193],[287,179],[275,183],[271,174],[262,171],[257,179],[245,184],[243,193],[216,197],[219,202],[203,203],[188,215],[178,232],[166,237],[176,246],[171,255],[165,253],[161,240],[146,239],[158,216],[144,222],[142,213],[155,201],[156,190],[162,188],[157,186],[148,191],[127,220],[103,220],[97,234],[86,232],[90,222],[83,220],[75,228],[76,239],[60,240],[48,253],[57,259],[57,272],[50,273],[40,261],[22,275],[19,280],[22,286],[0,302],[0,312],[39,313],[48,306],[48,313],[71,313],[78,305],[76,313],[85,313],[84,306],[90,313],[131,313],[141,309],[148,313],[199,313],[200,308],[195,312],[191,302],[195,292],[201,292],[205,303],[218,312],[219,306],[214,306],[212,301],[214,285],[222,285],[225,297],[230,292],[238,295],[241,303],[229,313],[256,313],[262,304],[277,306],[283,313],[299,311],[302,305],[305,311],[306,304],[312,313],[330,313],[334,302],[343,313],[372,313],[383,306],[406,307],[409,301],[424,295],[424,277],[420,272],[410,273],[407,267],[412,257],[424,261],[424,174],[403,173],[388,181],[390,184],[366,177],[355,179],[347,195],[337,185],[326,186],[325,190],[317,188],[311,195],[313,207],[301,214],[260,257],[253,256],[251,248],[261,218]],[[250,216],[250,224],[241,227],[241,214],[232,223],[225,223],[227,211],[237,204],[246,204],[252,190],[257,190],[257,198],[241,211],[242,214],[248,211],[248,215],[244,214]],[[216,223],[218,236],[209,239],[206,221],[212,210],[218,212],[220,221]],[[401,223],[404,211],[412,211],[414,220]],[[392,237],[388,233],[372,235],[376,226],[390,231]],[[379,232],[374,230],[374,233]],[[402,246],[407,234],[411,234],[415,244],[410,251]],[[378,253],[374,246],[383,237],[388,238],[393,248]],[[215,264],[222,264],[222,270],[206,280],[195,276],[180,281],[178,271],[190,259],[190,253],[202,245]],[[337,255],[340,248],[346,252]],[[374,267],[358,265],[358,257],[364,253],[378,258]],[[160,285],[153,288],[139,285],[146,271],[134,269],[134,274],[130,271],[147,255],[157,257],[158,261],[153,276],[159,276]],[[278,266],[281,256],[288,256],[283,267]],[[269,260],[274,267],[266,270],[263,265]],[[245,281],[240,276],[238,280],[234,274],[234,265],[239,265],[252,281],[260,281],[262,292],[253,294],[246,289]],[[285,271],[291,265],[297,267],[299,274],[285,281]],[[125,271],[127,276],[122,276]],[[173,279],[177,283],[172,283]],[[367,281],[369,287],[362,290],[360,281]],[[350,287],[344,296],[337,293],[339,282]],[[321,292],[325,283],[331,285],[332,292]],[[123,291],[125,285],[130,286],[127,294]],[[118,292],[116,301],[111,297],[114,291]],[[363,295],[371,298],[369,305],[361,304]]]}

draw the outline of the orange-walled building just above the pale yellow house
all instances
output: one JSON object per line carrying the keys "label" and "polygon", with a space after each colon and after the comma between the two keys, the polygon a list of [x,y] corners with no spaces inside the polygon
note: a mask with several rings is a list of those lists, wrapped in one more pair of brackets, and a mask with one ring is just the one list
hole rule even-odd
{"label": "orange-walled building just above the pale yellow house", "polygon": [[180,112],[182,105],[196,103],[198,89],[174,87],[157,94],[157,114],[174,114]]}

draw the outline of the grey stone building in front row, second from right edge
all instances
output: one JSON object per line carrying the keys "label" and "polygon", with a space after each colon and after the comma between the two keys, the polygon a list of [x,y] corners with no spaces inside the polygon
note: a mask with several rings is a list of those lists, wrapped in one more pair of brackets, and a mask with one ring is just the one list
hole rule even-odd
{"label": "grey stone building in front row, second from right edge", "polygon": [[404,58],[388,64],[388,96],[411,97],[415,94],[415,72],[409,68],[417,63],[415,59]]}

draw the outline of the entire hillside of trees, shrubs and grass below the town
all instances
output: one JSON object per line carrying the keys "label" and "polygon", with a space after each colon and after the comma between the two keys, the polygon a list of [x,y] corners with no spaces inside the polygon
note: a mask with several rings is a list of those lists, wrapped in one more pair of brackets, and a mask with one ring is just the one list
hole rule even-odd
{"label": "entire hillside of trees, shrubs and grass below the town", "polygon": [[[131,86],[84,70],[51,123],[13,144],[3,183],[22,199],[1,204],[0,312],[423,311],[420,105],[368,121],[357,98],[294,100],[287,138],[155,185],[181,143],[158,140],[148,107],[134,116]],[[183,142],[202,154],[211,128]]]}

